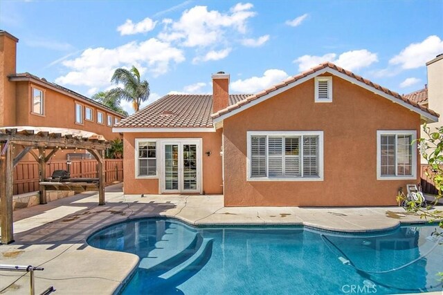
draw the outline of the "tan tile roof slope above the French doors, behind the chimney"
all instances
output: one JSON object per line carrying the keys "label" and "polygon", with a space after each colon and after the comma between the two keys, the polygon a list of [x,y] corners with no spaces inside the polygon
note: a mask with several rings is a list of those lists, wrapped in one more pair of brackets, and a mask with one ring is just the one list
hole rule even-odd
{"label": "tan tile roof slope above the French doors, behind the chimney", "polygon": [[[249,95],[229,95],[236,104]],[[213,127],[213,95],[171,94],[121,120],[117,128],[210,128]]]}

